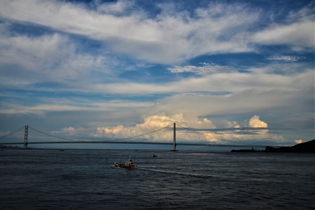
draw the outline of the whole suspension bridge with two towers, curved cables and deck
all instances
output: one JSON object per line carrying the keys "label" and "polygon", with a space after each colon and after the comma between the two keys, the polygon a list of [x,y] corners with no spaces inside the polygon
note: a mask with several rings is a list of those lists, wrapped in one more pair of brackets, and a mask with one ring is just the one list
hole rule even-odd
{"label": "whole suspension bridge with two towers, curved cables and deck", "polygon": [[[178,126],[178,127],[176,127]],[[80,137],[82,138],[82,137]],[[96,139],[96,137],[92,138]],[[244,144],[226,139],[216,138],[209,131],[194,131],[184,128],[176,123],[164,128],[159,128],[149,133],[131,136],[128,138],[106,140],[66,139],[48,133],[38,131],[29,126],[24,126],[14,132],[0,137],[0,145],[23,145],[27,148],[31,144],[146,144],[146,145],[173,145],[176,146],[212,146],[212,147],[244,147],[244,148],[266,148],[266,145]]]}

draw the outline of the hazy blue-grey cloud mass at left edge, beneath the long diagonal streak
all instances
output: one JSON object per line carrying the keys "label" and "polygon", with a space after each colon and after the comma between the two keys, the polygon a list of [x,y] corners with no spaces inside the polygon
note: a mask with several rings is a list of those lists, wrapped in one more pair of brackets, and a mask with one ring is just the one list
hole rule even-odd
{"label": "hazy blue-grey cloud mass at left edge, beneath the long diagonal streak", "polygon": [[68,36],[57,33],[39,37],[7,37],[0,33],[0,47],[5,51],[0,56],[2,68],[11,66],[0,73],[1,85],[6,87],[26,89],[26,85],[44,82],[68,87],[82,82],[79,86],[86,86],[89,79],[95,79],[92,70],[112,76],[107,65],[114,61],[101,55],[77,53],[77,46]]}

